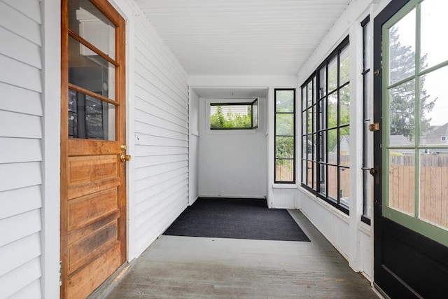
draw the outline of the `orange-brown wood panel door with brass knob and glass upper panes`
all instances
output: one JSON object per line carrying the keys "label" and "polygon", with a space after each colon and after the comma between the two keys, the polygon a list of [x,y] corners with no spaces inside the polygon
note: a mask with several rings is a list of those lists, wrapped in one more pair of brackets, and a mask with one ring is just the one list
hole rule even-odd
{"label": "orange-brown wood panel door with brass knob and glass upper panes", "polygon": [[125,21],[62,0],[61,297],[86,298],[126,260]]}

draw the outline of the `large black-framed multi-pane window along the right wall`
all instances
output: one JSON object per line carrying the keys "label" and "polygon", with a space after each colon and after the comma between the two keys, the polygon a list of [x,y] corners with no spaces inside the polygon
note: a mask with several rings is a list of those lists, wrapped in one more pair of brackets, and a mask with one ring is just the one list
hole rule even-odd
{"label": "large black-framed multi-pane window along the right wall", "polygon": [[349,214],[349,37],[301,86],[302,186]]}

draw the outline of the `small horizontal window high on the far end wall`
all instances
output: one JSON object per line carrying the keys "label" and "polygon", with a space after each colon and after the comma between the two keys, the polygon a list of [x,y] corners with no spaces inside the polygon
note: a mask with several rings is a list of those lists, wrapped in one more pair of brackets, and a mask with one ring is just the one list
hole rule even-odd
{"label": "small horizontal window high on the far end wall", "polygon": [[210,130],[251,130],[258,127],[258,99],[245,103],[210,103]]}

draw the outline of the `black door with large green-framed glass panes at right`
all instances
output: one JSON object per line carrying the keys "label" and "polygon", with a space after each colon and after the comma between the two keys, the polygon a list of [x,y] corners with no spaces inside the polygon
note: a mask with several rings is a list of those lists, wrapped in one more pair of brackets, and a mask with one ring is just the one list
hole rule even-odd
{"label": "black door with large green-framed glass panes at right", "polygon": [[381,169],[374,282],[391,298],[448,293],[448,144],[441,138],[448,98],[440,89],[448,55],[435,34],[446,18],[440,4],[392,0],[374,19],[374,123],[381,123],[374,132]]}

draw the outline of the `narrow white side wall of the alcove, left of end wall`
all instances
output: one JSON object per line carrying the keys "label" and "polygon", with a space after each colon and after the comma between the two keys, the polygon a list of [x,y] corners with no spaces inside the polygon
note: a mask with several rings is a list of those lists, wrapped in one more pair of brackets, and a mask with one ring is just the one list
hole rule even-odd
{"label": "narrow white side wall of the alcove, left of end wall", "polygon": [[190,89],[190,134],[188,140],[188,204],[199,197],[199,95]]}

